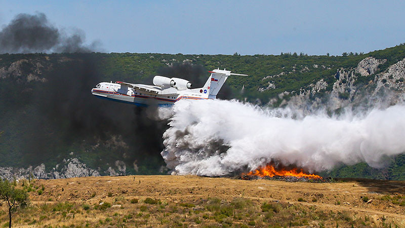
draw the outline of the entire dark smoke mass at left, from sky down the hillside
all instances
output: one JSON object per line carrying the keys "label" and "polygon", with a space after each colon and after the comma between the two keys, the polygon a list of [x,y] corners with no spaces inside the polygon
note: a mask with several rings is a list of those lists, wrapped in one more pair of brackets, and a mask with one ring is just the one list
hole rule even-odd
{"label": "entire dark smoke mass at left, from sky down the hillside", "polygon": [[[3,139],[12,142],[9,147],[2,144],[6,146],[0,154],[7,159],[0,166],[45,163],[50,168],[70,152],[100,171],[115,160],[153,164],[156,170],[164,164],[159,153],[167,123],[156,121],[155,106],[141,108],[91,95],[90,90],[106,80],[98,67],[102,57],[87,53],[95,50],[84,45],[84,37],[79,30],[65,35],[42,13],[19,14],[0,31],[1,53],[66,53],[5,56],[18,61],[8,67],[10,75],[0,79],[5,95],[0,99]],[[29,82],[27,75],[38,65],[40,78]]]}

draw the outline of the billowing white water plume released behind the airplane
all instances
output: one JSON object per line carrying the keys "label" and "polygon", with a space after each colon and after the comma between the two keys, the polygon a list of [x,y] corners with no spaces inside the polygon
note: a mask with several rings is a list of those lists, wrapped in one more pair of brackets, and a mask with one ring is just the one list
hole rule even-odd
{"label": "billowing white water plume released behind the airplane", "polygon": [[175,174],[231,175],[270,161],[310,172],[341,163],[381,167],[383,158],[405,151],[401,104],[339,117],[297,118],[292,109],[235,100],[179,101],[171,111],[161,155]]}

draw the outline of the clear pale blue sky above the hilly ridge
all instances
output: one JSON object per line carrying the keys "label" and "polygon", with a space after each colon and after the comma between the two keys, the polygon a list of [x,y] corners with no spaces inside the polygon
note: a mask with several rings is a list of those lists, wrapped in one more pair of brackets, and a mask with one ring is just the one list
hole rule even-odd
{"label": "clear pale blue sky above the hilly ridge", "polygon": [[105,52],[341,55],[405,43],[405,1],[2,1],[0,25],[42,12]]}

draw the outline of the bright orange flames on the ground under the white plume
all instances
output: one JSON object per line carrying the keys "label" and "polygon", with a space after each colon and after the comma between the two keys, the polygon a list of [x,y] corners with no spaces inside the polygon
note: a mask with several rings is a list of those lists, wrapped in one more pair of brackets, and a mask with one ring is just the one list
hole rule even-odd
{"label": "bright orange flames on the ground under the white plume", "polygon": [[274,168],[274,166],[272,166],[270,164],[267,164],[264,167],[260,166],[256,170],[250,171],[249,173],[247,173],[245,175],[260,176],[260,177],[294,176],[294,177],[305,177],[305,178],[310,178],[310,179],[315,179],[315,178],[322,179],[322,177],[320,177],[318,175],[304,173],[304,171],[302,169],[298,169],[298,168],[287,169],[285,167],[283,167],[281,169],[276,169],[276,168]]}

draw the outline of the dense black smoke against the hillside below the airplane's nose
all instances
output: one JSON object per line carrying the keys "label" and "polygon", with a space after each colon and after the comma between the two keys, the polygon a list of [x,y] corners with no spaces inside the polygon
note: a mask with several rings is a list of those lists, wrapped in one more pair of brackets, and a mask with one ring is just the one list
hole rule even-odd
{"label": "dense black smoke against the hillside below the airplane's nose", "polygon": [[[57,163],[73,147],[79,158],[86,157],[86,151],[108,155],[85,161],[93,167],[115,160],[142,163],[150,158],[157,160],[155,165],[163,164],[159,162],[159,152],[163,149],[161,135],[167,123],[154,118],[156,106],[137,107],[94,97],[91,88],[105,81],[97,67],[100,60],[94,54],[64,54],[62,58],[66,56],[71,60],[47,72],[47,81],[35,83],[26,93],[31,97],[26,105],[32,111],[25,116],[28,124],[23,127],[28,134],[19,138],[23,163],[38,165],[49,160]],[[17,97],[14,103],[24,101]],[[8,112],[18,109],[23,108],[17,106]]]}

